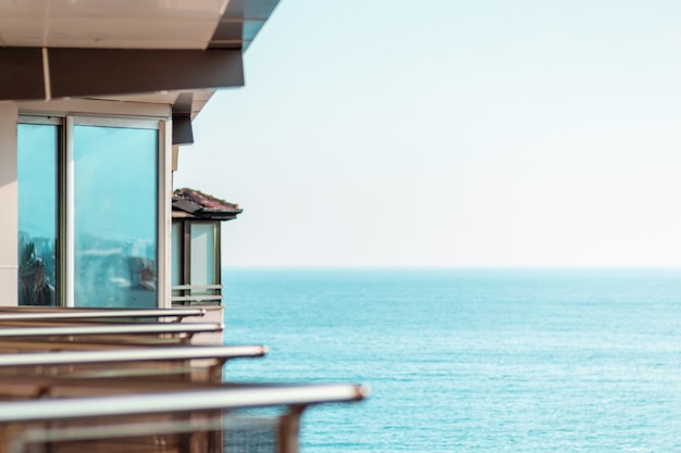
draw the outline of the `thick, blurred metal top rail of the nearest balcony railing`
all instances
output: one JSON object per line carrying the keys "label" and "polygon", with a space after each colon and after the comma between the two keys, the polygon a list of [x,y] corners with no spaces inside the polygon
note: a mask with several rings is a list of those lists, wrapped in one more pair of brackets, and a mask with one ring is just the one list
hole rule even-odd
{"label": "thick, blurred metal top rail of the nearest balcony railing", "polygon": [[362,385],[273,385],[69,398],[67,400],[50,398],[0,403],[0,424],[280,405],[307,406],[360,401],[369,393],[370,389]]}

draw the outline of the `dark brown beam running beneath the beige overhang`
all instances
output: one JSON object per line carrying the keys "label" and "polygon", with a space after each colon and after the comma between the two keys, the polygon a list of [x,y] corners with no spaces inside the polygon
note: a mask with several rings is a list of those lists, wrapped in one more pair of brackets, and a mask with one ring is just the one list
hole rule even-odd
{"label": "dark brown beam running beneath the beige overhang", "polygon": [[0,49],[0,100],[244,85],[240,50]]}

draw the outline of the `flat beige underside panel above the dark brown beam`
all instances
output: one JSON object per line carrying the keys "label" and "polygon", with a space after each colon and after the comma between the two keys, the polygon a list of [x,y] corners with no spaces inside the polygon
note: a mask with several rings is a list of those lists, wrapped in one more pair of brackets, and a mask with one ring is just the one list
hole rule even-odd
{"label": "flat beige underside panel above the dark brown beam", "polygon": [[0,46],[206,49],[228,0],[0,0]]}

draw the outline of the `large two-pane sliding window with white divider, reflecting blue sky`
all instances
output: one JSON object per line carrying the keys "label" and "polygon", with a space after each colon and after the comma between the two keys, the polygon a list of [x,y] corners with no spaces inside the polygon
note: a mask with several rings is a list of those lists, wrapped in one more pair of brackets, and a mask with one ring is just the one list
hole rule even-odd
{"label": "large two-pane sliding window with white divider, reflecting blue sky", "polygon": [[20,304],[158,304],[158,121],[18,125]]}

